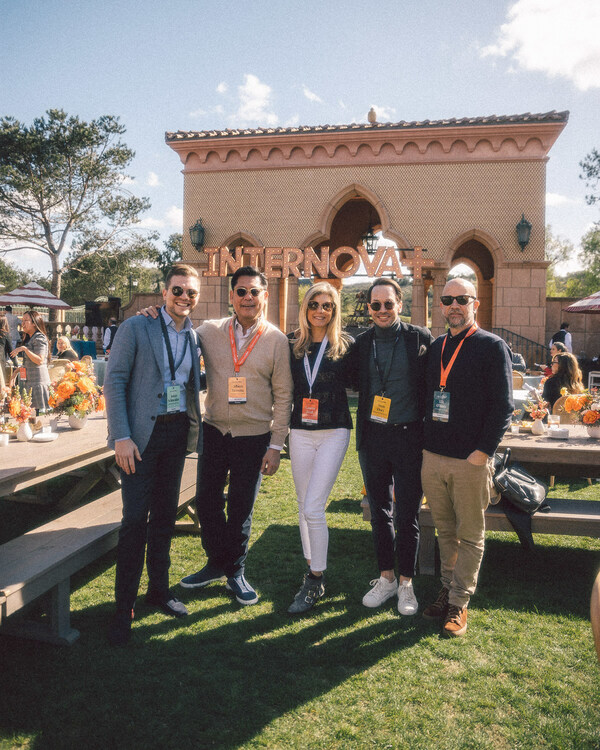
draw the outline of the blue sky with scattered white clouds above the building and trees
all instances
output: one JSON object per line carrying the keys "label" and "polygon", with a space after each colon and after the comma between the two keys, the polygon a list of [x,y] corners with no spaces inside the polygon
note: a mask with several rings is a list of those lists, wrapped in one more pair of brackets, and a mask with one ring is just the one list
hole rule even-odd
{"label": "blue sky with scattered white clouds above the building and trees", "polygon": [[[360,122],[371,106],[392,122],[570,110],[546,221],[577,246],[600,219],[579,179],[600,148],[598,0],[0,0],[0,27],[0,115],[118,115],[164,239],[183,203],[165,131]],[[49,271],[40,253],[6,259]]]}

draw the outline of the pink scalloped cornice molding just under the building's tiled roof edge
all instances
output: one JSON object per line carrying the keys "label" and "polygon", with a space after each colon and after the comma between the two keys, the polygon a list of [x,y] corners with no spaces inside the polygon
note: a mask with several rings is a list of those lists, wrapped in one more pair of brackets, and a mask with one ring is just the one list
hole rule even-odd
{"label": "pink scalloped cornice molding just under the building's tiled roof edge", "polygon": [[[184,173],[315,166],[433,164],[545,160],[566,125],[551,121],[491,121],[376,130],[248,131],[169,137]],[[238,131],[232,131],[237,133]],[[259,134],[260,133],[260,134]],[[179,135],[179,134],[176,134]]]}

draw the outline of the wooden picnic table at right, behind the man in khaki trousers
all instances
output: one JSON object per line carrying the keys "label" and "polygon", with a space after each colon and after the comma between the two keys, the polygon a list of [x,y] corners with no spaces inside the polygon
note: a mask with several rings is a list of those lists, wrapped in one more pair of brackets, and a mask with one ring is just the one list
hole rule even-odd
{"label": "wooden picnic table at right, behind the man in khaki trousers", "polygon": [[498,452],[510,448],[511,459],[534,476],[600,478],[600,440],[589,437],[582,425],[571,425],[569,430],[570,437],[564,440],[555,440],[547,434],[507,432]]}

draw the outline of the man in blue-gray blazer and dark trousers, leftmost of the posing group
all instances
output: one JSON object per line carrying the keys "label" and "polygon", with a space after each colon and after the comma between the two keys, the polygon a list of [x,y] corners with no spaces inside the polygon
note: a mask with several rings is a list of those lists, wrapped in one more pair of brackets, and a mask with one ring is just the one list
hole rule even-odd
{"label": "man in blue-gray blazer and dark trousers, leftmost of the posing group", "polygon": [[115,450],[123,496],[109,630],[115,646],[131,635],[146,541],[146,603],[174,617],[188,614],[169,590],[169,550],[186,452],[202,452],[200,347],[190,320],[199,288],[194,268],[173,266],[158,317],[126,320],[106,368],[108,446]]}

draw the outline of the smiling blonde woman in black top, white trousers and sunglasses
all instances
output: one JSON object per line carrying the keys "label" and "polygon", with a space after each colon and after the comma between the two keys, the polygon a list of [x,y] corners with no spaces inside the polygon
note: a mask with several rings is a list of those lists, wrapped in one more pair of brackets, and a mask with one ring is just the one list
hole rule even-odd
{"label": "smiling blonde woman in black top, white trousers and sunglasses", "polygon": [[329,542],[325,506],[352,429],[344,377],[352,339],[342,332],[340,298],[331,284],[320,282],[308,290],[299,323],[290,341],[294,381],[290,457],[309,570],[290,614],[308,611],[325,593]]}

